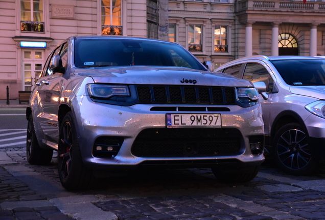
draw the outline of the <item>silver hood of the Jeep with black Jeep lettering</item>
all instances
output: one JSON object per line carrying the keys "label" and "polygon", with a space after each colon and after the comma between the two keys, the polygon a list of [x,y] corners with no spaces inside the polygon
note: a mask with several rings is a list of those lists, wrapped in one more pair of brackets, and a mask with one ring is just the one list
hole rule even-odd
{"label": "silver hood of the Jeep with black Jeep lettering", "polygon": [[243,79],[223,73],[194,70],[183,67],[133,66],[120,68],[96,67],[76,69],[75,74],[90,76],[98,83],[148,84],[148,85],[196,85],[250,87]]}

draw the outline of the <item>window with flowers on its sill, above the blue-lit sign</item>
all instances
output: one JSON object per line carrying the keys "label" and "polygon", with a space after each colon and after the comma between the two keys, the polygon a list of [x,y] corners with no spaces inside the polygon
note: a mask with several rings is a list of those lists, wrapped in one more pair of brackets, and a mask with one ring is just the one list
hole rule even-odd
{"label": "window with flowers on its sill, above the blue-lit sign", "polygon": [[43,0],[20,0],[20,31],[44,32]]}

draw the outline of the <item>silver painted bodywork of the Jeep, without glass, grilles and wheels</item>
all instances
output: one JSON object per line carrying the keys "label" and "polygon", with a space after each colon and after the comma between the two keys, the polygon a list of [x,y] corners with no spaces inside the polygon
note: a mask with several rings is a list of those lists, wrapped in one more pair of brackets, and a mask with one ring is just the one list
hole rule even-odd
{"label": "silver painted bodywork of the Jeep, without glass, grilles and wheels", "polygon": [[[69,50],[73,51],[74,39],[69,38],[64,42],[68,42]],[[222,73],[211,73],[208,70],[199,71],[180,67],[130,66],[83,69],[74,66],[73,58],[74,53],[69,53],[67,70],[64,74],[56,73],[39,78],[39,86],[32,92],[28,108],[31,109],[36,136],[39,143],[42,144],[42,147],[51,147],[57,150],[59,119],[62,117],[60,116],[60,110],[62,107],[69,107],[73,112],[77,124],[77,133],[79,134],[83,161],[94,169],[105,169],[110,165],[136,165],[145,160],[157,159],[237,158],[247,163],[260,163],[264,160],[263,154],[253,155],[251,153],[248,141],[248,136],[250,135],[264,135],[264,124],[259,103],[246,108],[238,105],[222,105],[230,109],[230,112],[221,113],[222,127],[237,128],[242,133],[244,150],[241,155],[222,157],[141,158],[132,155],[130,152],[135,137],[140,131],[146,128],[165,128],[165,115],[170,112],[150,111],[150,108],[153,106],[168,105],[110,105],[92,101],[87,92],[87,84],[94,82],[110,84],[181,85],[180,80],[182,78],[195,78],[197,80],[196,85],[233,87],[251,87],[251,82]],[[125,137],[117,156],[113,158],[96,158],[92,155],[94,141],[96,137],[101,135]]]}

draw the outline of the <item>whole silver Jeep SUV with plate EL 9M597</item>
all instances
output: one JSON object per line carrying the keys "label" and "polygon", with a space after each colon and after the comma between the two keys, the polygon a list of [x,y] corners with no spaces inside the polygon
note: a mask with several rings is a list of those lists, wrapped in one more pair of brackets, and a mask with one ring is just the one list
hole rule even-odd
{"label": "whole silver Jeep SUV with plate EL 9M597", "polygon": [[58,151],[68,190],[89,187],[95,170],[141,166],[208,167],[220,181],[246,182],[264,161],[251,82],[212,73],[171,42],[64,40],[44,65],[27,119],[28,162],[48,164]]}

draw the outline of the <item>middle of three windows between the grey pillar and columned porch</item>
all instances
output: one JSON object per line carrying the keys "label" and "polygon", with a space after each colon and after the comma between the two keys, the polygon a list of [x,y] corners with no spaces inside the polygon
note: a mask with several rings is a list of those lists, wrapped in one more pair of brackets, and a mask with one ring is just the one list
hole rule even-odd
{"label": "middle of three windows between the grey pillar and columned porch", "polygon": [[202,51],[202,25],[189,24],[188,43],[190,51]]}

